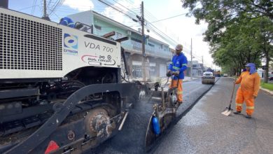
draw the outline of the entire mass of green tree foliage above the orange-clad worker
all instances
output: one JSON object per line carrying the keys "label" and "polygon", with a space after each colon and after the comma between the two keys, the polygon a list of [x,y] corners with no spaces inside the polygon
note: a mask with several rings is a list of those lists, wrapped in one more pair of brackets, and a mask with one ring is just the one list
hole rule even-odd
{"label": "entire mass of green tree foliage above the orange-clad worker", "polygon": [[273,55],[273,2],[267,0],[181,0],[196,23],[208,22],[204,41],[209,42],[214,63],[230,74],[253,62],[267,64]]}

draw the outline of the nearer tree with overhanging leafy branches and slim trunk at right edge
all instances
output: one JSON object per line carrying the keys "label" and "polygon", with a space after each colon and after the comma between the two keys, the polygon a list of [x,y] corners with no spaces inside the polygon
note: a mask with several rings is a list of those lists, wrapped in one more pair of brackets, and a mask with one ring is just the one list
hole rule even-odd
{"label": "nearer tree with overhanging leafy branches and slim trunk at right edge", "polygon": [[[222,46],[223,37],[226,31],[233,25],[237,29],[244,27],[241,35],[237,36],[237,41],[242,44],[237,46],[237,50],[245,49],[248,53],[241,52],[242,55],[251,55],[250,50],[262,53],[266,60],[265,74],[267,77],[269,60],[272,57],[272,34],[273,34],[273,1],[268,0],[181,0],[184,8],[189,8],[188,15],[194,15],[196,23],[200,20],[208,22],[208,29],[204,33],[204,41],[208,41],[212,49]],[[247,27],[251,23],[251,26]],[[250,34],[255,31],[255,34]],[[252,37],[252,38],[251,38]],[[256,40],[253,40],[255,38]],[[253,43],[248,43],[253,41]],[[247,48],[248,46],[248,48]],[[214,52],[215,50],[211,50]],[[255,56],[255,54],[254,54]],[[256,55],[258,57],[258,55]],[[248,56],[248,62],[250,62]],[[216,61],[216,60],[215,60]],[[267,78],[265,78],[267,82]]]}

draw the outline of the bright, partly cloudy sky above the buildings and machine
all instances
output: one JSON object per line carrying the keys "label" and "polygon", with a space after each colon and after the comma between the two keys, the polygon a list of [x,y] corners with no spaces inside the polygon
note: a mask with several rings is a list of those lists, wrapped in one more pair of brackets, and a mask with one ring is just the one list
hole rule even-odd
{"label": "bright, partly cloudy sky above the buildings and machine", "polygon": [[[101,13],[106,17],[109,17],[118,22],[122,22],[124,25],[132,27],[133,29],[139,29],[140,24],[127,18],[123,13],[134,16],[141,15],[141,0],[102,0],[108,1],[112,6],[116,6],[123,10],[123,13],[119,13],[117,10],[106,6],[99,0],[62,0],[62,6],[53,9],[58,0],[47,0],[48,3],[48,15],[50,20],[59,22],[59,19],[71,15],[73,13],[82,12],[85,10],[94,10],[97,13]],[[9,0],[9,8],[12,10],[18,10],[23,13],[41,17],[43,15],[43,0]],[[54,10],[52,12],[52,10]],[[202,62],[202,56],[204,56],[204,64],[214,69],[219,69],[213,64],[213,59],[209,55],[209,45],[207,42],[202,41],[202,34],[207,29],[207,23],[201,22],[200,25],[195,25],[194,17],[186,17],[188,10],[182,8],[180,0],[144,0],[144,18],[148,21],[146,23],[146,34],[157,38],[160,41],[166,42],[160,36],[155,34],[151,29],[151,25],[156,27],[156,31],[160,30],[164,34],[167,34],[176,43],[181,43],[184,46],[184,52],[188,59],[190,59],[190,40],[193,41],[193,60]],[[182,14],[182,15],[181,15]],[[176,15],[179,15],[175,18]],[[170,18],[168,20],[162,20]],[[137,19],[137,18],[135,18]],[[162,21],[158,21],[162,20]],[[158,21],[158,22],[157,22]],[[153,22],[153,23],[151,23]],[[147,32],[147,29],[150,32]],[[166,38],[166,37],[165,37]],[[168,42],[167,42],[168,43]],[[174,43],[168,43],[170,47],[174,47]]]}

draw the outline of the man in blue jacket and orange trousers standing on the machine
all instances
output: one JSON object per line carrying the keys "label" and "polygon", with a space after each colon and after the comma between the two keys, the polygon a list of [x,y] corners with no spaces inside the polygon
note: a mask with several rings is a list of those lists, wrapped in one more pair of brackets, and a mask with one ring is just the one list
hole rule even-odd
{"label": "man in blue jacket and orange trousers standing on the machine", "polygon": [[[172,63],[169,64],[169,70],[167,72],[167,76],[169,74],[174,74],[172,77],[172,84],[169,85],[169,88],[177,87],[177,104],[182,104],[182,83],[184,79],[184,71],[187,69],[188,60],[187,57],[183,54],[183,45],[176,45],[176,55],[172,57]],[[177,83],[178,82],[178,83]]]}

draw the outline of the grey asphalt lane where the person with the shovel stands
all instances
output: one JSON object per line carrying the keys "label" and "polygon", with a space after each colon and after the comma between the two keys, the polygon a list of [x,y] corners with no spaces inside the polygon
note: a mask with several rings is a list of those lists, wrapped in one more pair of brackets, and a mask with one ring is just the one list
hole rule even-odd
{"label": "grey asphalt lane where the person with the shovel stands", "polygon": [[218,80],[153,153],[273,153],[273,97],[260,90],[251,119],[244,117],[245,105],[241,115],[223,116],[232,80]]}

